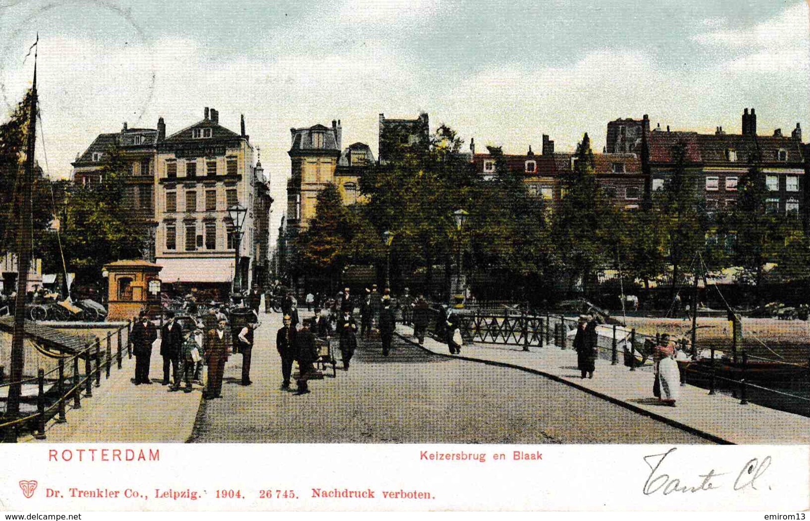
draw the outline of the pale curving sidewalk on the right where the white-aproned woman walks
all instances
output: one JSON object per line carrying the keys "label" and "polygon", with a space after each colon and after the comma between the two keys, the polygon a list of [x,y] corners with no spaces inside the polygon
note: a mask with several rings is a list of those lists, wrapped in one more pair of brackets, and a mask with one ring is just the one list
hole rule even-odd
{"label": "pale curving sidewalk on the right where the white-aproned woman walks", "polygon": [[[410,327],[397,324],[397,333],[407,341],[415,341]],[[652,396],[652,371],[629,371],[621,363],[612,366],[600,359],[594,378],[581,379],[577,354],[572,349],[532,346],[526,352],[514,345],[464,345],[461,354],[451,355],[446,344],[429,337],[425,337],[422,348],[449,358],[535,372],[718,443],[810,443],[810,417],[755,404],[740,405],[740,400],[731,396],[710,396],[706,389],[691,385],[680,388],[677,407],[659,405]]]}

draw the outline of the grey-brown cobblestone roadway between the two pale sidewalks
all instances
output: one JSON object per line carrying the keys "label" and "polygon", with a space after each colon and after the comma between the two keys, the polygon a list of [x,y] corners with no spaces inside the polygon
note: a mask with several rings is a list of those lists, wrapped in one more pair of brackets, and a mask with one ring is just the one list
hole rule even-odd
{"label": "grey-brown cobblestone roadway between the two pale sidewalks", "polygon": [[[312,392],[280,390],[279,314],[262,315],[253,385],[228,361],[223,398],[203,402],[196,443],[706,443],[585,392],[515,369],[439,358],[394,337],[360,341],[350,371],[339,352]],[[293,387],[295,384],[293,383]]]}

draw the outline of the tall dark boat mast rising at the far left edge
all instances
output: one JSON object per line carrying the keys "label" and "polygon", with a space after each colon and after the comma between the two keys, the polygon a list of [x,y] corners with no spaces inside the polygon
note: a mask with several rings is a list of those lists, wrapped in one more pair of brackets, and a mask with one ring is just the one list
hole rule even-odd
{"label": "tall dark boat mast rising at the far left edge", "polygon": [[[36,38],[39,41],[39,36]],[[33,235],[32,186],[34,184],[34,148],[36,144],[36,51],[34,52],[34,83],[28,112],[28,136],[25,149],[25,168],[17,193],[17,297],[14,309],[14,332],[11,339],[11,383],[6,402],[6,418],[19,416],[19,399],[22,395],[23,367],[25,365],[25,300],[28,294],[28,268],[31,265]],[[18,173],[19,175],[19,173]],[[6,429],[6,441],[16,441],[16,427]]]}

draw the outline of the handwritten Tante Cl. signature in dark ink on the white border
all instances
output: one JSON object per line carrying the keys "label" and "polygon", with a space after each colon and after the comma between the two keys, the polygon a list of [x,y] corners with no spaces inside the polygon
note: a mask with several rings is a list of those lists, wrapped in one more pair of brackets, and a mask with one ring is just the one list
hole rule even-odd
{"label": "handwritten Tante Cl. signature in dark ink on the white border", "polygon": [[[671,455],[676,450],[676,447],[672,447],[670,450],[661,454],[644,456],[644,463],[650,467],[650,475],[647,476],[647,479],[644,482],[643,492],[645,495],[649,496],[660,492],[666,496],[667,494],[674,492],[694,493],[704,490],[719,489],[722,488],[720,483],[723,482],[723,480],[719,478],[731,474],[731,472],[717,472],[717,470],[712,468],[709,470],[709,472],[698,474],[697,478],[692,478],[689,480],[681,477],[672,477],[671,474],[663,472],[663,463],[664,460],[667,459],[667,456]],[[757,490],[757,479],[759,479],[762,474],[768,470],[770,467],[770,462],[770,455],[765,456],[765,458],[762,460],[759,460],[758,458],[748,460],[740,469],[740,472],[737,474],[737,477],[734,480],[734,490]],[[729,477],[724,479],[725,481],[728,481],[731,478]]]}

